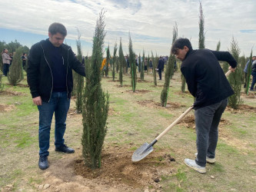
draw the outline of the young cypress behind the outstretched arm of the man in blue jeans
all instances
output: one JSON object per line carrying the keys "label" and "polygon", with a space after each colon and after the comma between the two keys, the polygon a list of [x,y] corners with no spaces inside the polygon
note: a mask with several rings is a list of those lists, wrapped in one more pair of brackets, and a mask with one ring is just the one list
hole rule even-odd
{"label": "young cypress behind the outstretched arm of the man in blue jeans", "polygon": [[[82,52],[81,52],[81,41],[80,41],[80,33],[78,31],[78,40],[76,41],[76,45],[78,48],[78,61],[82,61]],[[78,114],[81,113],[81,105],[82,105],[82,93],[83,93],[83,88],[84,88],[84,77],[81,76],[78,73],[75,73],[75,78],[76,78],[76,101],[75,101],[75,105],[76,105],[76,111],[78,112]]]}

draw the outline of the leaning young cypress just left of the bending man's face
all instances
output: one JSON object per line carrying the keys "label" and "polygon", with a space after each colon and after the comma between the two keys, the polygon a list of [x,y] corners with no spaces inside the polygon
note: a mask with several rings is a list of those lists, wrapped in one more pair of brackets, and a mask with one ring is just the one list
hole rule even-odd
{"label": "leaning young cypress just left of the bending man's face", "polygon": [[[172,32],[172,44],[175,42],[177,37],[178,37],[178,26],[175,23],[175,26],[174,26],[173,32]],[[169,88],[170,88],[170,81],[171,81],[171,77],[174,73],[175,73],[175,55],[173,55],[171,53],[169,56],[169,59],[168,59],[168,63],[166,65],[166,69],[165,69],[164,88],[161,91],[161,106],[162,107],[166,107],[167,99],[168,99],[168,92],[169,92]]]}

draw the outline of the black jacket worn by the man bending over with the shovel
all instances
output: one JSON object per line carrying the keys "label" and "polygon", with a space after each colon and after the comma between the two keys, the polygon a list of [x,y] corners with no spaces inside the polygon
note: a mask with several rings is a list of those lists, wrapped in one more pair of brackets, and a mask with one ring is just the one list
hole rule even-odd
{"label": "black jacket worn by the man bending over with the shovel", "polygon": [[188,91],[196,98],[194,108],[202,108],[228,98],[231,88],[218,61],[227,61],[232,68],[237,61],[228,51],[208,49],[190,50],[181,64],[181,72],[186,78]]}

